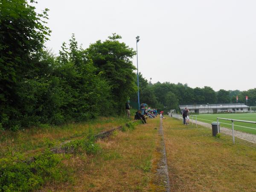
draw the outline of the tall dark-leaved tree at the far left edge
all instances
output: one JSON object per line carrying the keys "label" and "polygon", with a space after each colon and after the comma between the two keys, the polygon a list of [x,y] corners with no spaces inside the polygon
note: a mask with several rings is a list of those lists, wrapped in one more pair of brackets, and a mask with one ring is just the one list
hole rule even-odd
{"label": "tall dark-leaved tree at the far left edge", "polygon": [[50,34],[47,11],[37,14],[26,0],[0,1],[0,123],[6,127],[20,126],[17,119],[22,119],[24,107],[20,86],[40,71],[34,58]]}

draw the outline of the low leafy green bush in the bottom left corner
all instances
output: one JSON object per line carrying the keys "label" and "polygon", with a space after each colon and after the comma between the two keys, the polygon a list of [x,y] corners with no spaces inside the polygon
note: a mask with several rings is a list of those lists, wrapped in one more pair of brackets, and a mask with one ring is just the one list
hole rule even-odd
{"label": "low leafy green bush in the bottom left corner", "polygon": [[0,160],[0,191],[31,191],[38,189],[46,180],[61,180],[61,171],[56,168],[61,156],[45,151],[32,160],[9,157]]}

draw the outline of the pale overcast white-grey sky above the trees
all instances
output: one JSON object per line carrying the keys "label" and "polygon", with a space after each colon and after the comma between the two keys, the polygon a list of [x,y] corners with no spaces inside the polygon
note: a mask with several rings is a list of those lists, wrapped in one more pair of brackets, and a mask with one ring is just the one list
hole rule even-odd
{"label": "pale overcast white-grey sky above the trees", "polygon": [[[215,91],[256,88],[255,0],[38,0],[49,9],[46,46],[75,34],[86,49],[112,33],[136,50],[145,79]],[[137,66],[136,56],[132,59]]]}

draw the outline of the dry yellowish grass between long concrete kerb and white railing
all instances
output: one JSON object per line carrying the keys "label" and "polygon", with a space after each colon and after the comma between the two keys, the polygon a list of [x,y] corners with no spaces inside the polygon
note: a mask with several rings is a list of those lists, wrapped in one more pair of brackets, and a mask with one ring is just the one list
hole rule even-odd
{"label": "dry yellowish grass between long concrete kerb and white railing", "polygon": [[163,128],[171,191],[256,191],[256,145],[173,118]]}

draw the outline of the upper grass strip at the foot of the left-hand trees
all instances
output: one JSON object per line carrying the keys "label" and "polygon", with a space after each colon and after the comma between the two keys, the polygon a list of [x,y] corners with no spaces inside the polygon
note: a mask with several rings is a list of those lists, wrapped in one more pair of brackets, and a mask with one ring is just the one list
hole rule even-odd
{"label": "upper grass strip at the foot of the left-hand trees", "polygon": [[17,132],[0,132],[0,158],[13,156],[16,153],[32,154],[45,148],[57,145],[65,140],[84,137],[91,128],[93,132],[108,130],[124,125],[128,119],[121,117],[102,117],[85,123],[73,123],[62,126],[44,126],[44,128],[30,128]]}

